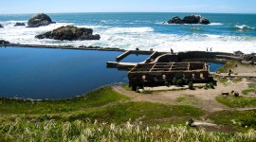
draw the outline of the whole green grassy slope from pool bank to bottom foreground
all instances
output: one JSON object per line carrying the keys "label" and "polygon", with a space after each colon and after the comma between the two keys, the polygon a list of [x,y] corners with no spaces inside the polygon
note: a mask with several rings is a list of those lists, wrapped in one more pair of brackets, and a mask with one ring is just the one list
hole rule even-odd
{"label": "whole green grassy slope from pool bank to bottom foreground", "polygon": [[[180,97],[176,101],[190,101],[190,98]],[[0,139],[4,141],[256,139],[255,111],[210,113],[190,105],[134,101],[109,86],[77,98],[1,98],[0,111]],[[210,119],[220,127],[192,128],[185,125],[189,119],[202,118]]]}

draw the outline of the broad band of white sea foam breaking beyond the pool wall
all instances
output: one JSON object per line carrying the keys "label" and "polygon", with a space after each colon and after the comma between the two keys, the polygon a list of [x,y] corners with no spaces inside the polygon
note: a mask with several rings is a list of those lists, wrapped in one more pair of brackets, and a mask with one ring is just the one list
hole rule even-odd
{"label": "broad band of white sea foam breaking beyond the pool wall", "polygon": [[[233,52],[241,50],[245,53],[254,52],[256,37],[230,36],[218,34],[171,34],[155,31],[154,27],[110,27],[110,26],[79,26],[91,27],[94,34],[100,34],[100,41],[56,41],[50,39],[39,40],[35,35],[52,30],[57,27],[74,25],[73,23],[57,23],[46,27],[28,28],[13,27],[16,22],[8,21],[0,30],[0,39],[14,44],[47,44],[47,45],[93,45],[101,47],[118,47],[122,49],[145,49],[153,48],[157,51],[206,51],[212,47],[212,51]],[[197,28],[196,28],[197,30]]]}

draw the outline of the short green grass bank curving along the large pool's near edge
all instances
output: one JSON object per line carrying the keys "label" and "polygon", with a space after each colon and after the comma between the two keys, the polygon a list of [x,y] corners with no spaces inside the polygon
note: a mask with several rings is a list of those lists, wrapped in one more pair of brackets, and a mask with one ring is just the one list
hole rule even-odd
{"label": "short green grass bank curving along the large pool's near edge", "polygon": [[101,107],[117,101],[127,101],[127,98],[114,92],[111,87],[103,87],[78,98],[29,100],[15,98],[0,98],[1,114],[56,114],[74,112],[86,108]]}

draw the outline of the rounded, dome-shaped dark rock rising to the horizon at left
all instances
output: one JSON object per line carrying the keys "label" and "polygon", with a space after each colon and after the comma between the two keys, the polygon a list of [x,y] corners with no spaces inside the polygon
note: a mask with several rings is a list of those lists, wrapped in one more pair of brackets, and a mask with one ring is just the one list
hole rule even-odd
{"label": "rounded, dome-shaped dark rock rising to the horizon at left", "polygon": [[45,13],[40,13],[28,20],[27,27],[45,27],[54,23],[55,22],[52,22],[48,15]]}

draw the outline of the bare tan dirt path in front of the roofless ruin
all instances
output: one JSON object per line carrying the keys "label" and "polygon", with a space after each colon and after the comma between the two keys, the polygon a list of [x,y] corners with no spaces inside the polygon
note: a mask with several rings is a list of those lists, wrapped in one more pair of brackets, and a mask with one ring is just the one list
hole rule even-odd
{"label": "bare tan dirt path in front of the roofless ruin", "polygon": [[208,112],[232,110],[228,106],[219,103],[215,100],[222,92],[231,92],[232,90],[242,92],[247,88],[247,80],[242,80],[237,83],[230,82],[229,85],[218,83],[215,89],[196,89],[196,90],[181,90],[167,91],[154,94],[139,94],[133,91],[125,90],[120,86],[113,86],[113,89],[120,94],[132,98],[134,101],[150,101],[164,104],[192,105]]}

